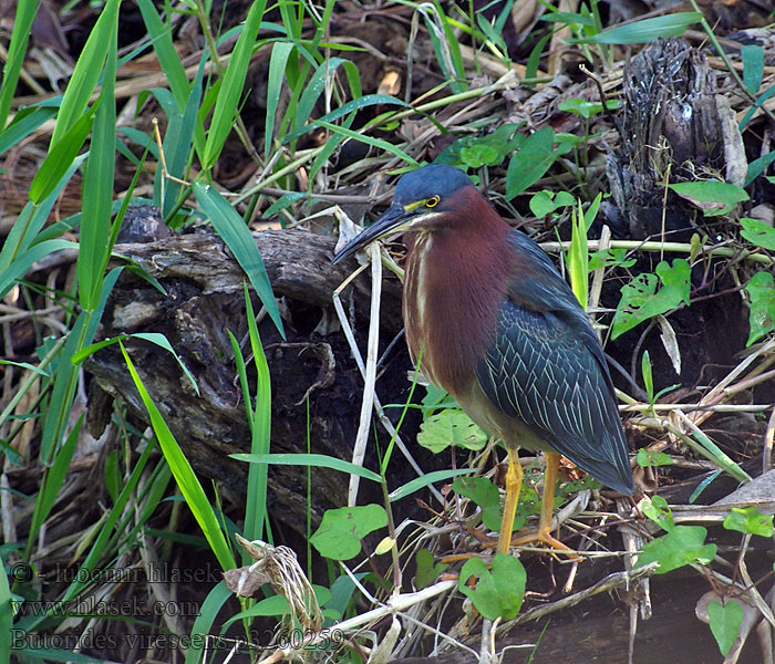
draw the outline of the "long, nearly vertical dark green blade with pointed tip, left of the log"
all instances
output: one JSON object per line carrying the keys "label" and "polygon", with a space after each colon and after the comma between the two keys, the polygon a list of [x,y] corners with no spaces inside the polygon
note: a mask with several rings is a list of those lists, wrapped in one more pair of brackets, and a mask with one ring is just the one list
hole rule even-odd
{"label": "long, nearly vertical dark green blade with pointed tip, left of the log", "polygon": [[81,232],[79,236],[79,299],[81,308],[92,311],[100,301],[102,278],[113,247],[111,237],[111,206],[113,204],[113,174],[115,170],[116,142],[116,23],[110,33],[105,58],[102,97],[97,105],[89,159],[83,177],[81,197]]}

